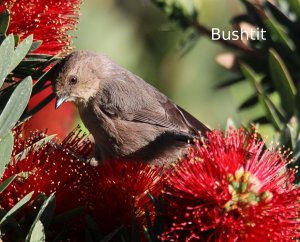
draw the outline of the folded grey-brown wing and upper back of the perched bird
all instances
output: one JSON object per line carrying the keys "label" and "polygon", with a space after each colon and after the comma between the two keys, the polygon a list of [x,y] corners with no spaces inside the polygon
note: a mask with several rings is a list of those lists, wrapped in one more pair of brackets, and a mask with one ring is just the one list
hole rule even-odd
{"label": "folded grey-brown wing and upper back of the perched bird", "polygon": [[[136,88],[136,83],[130,87],[130,83],[127,82],[126,86],[120,88],[120,93],[115,87],[114,93],[108,91],[106,94],[109,97],[106,96],[105,101],[102,100],[101,103],[102,110],[111,118],[156,125],[177,133],[197,135],[198,131],[205,133],[209,130],[154,87],[143,80],[138,81],[139,84],[142,83],[139,89]],[[122,98],[124,92],[130,93],[131,96]]]}

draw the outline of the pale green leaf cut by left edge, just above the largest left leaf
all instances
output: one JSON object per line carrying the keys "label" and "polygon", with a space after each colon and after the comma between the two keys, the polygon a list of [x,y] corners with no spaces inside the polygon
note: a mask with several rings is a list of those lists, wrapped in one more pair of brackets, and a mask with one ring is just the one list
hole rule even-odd
{"label": "pale green leaf cut by left edge, just above the largest left leaf", "polygon": [[5,77],[9,74],[11,61],[14,55],[14,47],[14,36],[10,34],[0,46],[0,87],[3,84]]}

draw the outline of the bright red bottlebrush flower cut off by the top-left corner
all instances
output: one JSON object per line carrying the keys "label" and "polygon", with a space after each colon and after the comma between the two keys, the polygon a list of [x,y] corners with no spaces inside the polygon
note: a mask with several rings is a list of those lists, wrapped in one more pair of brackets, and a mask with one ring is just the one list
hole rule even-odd
{"label": "bright red bottlebrush flower cut off by the top-left corner", "polygon": [[8,33],[21,39],[33,34],[42,40],[38,53],[55,55],[71,48],[72,36],[79,19],[81,0],[3,0],[0,11],[8,9],[11,19]]}

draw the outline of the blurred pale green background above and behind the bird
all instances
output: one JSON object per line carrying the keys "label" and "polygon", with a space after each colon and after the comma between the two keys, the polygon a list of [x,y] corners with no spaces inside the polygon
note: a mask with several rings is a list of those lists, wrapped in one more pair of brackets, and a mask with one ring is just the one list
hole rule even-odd
{"label": "blurred pale green background above and behind the bird", "polygon": [[[200,9],[201,23],[207,27],[227,29],[230,18],[243,10],[234,0],[194,2]],[[200,37],[182,56],[180,43],[186,33],[150,0],[85,0],[81,14],[74,40],[77,49],[110,56],[211,128],[223,128],[229,117],[237,125],[253,117],[253,113],[237,110],[237,104],[250,93],[248,83],[234,89],[215,88],[229,75],[215,61],[225,50]]]}

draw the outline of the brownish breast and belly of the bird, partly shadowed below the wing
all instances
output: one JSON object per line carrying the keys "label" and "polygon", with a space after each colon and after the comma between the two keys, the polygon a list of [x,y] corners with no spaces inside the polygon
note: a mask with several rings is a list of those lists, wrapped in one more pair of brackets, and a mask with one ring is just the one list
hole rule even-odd
{"label": "brownish breast and belly of the bird, partly shadowed below the wing", "polygon": [[79,108],[79,113],[104,160],[132,158],[146,161],[161,155],[166,157],[164,150],[174,146],[172,138],[163,135],[165,128],[110,118],[95,107]]}

